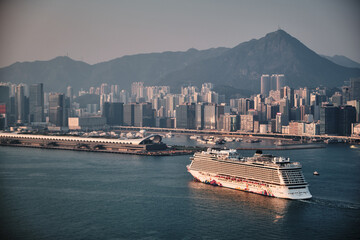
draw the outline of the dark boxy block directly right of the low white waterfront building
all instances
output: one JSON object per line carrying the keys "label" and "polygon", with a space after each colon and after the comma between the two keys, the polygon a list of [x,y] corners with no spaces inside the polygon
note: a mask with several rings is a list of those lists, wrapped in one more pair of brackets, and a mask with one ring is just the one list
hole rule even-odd
{"label": "dark boxy block directly right of the low white waterfront building", "polygon": [[105,102],[102,116],[108,125],[123,125],[124,104],[120,102]]}

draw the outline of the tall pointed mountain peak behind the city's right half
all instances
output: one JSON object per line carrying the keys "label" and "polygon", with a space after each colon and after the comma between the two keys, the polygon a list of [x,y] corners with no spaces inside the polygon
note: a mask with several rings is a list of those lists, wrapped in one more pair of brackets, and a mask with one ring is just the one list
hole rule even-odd
{"label": "tall pointed mountain peak behind the city's right half", "polygon": [[283,30],[267,34],[223,54],[171,72],[159,83],[172,87],[203,82],[259,92],[262,74],[284,73],[291,87],[335,87],[360,69],[337,65],[307,48]]}

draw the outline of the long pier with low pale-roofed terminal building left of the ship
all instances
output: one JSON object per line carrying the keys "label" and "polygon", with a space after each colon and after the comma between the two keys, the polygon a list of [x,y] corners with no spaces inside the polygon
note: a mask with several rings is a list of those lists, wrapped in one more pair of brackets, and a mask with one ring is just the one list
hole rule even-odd
{"label": "long pier with low pale-roofed terminal building left of the ship", "polygon": [[109,138],[0,133],[0,145],[145,156],[193,154],[198,150],[196,147],[169,148],[162,142],[162,137],[156,134],[141,139],[120,140]]}

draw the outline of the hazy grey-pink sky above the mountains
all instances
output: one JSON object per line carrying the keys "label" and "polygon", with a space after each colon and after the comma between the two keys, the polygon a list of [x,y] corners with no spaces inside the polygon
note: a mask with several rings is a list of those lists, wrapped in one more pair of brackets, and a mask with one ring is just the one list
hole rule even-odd
{"label": "hazy grey-pink sky above the mountains", "polygon": [[359,25],[356,0],[5,0],[0,67],[234,47],[278,27],[319,54],[360,62]]}

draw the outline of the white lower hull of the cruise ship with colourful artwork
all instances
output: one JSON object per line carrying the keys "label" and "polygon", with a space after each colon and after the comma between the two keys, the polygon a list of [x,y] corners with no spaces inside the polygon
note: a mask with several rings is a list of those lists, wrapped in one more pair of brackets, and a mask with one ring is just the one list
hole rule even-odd
{"label": "white lower hull of the cruise ship with colourful artwork", "polygon": [[190,170],[188,172],[198,181],[211,184],[214,186],[221,186],[232,188],[236,190],[257,193],[270,197],[286,198],[286,199],[309,199],[312,197],[307,185],[301,186],[283,186],[275,184],[264,184],[257,181],[241,179],[238,177],[223,177],[210,173]]}

